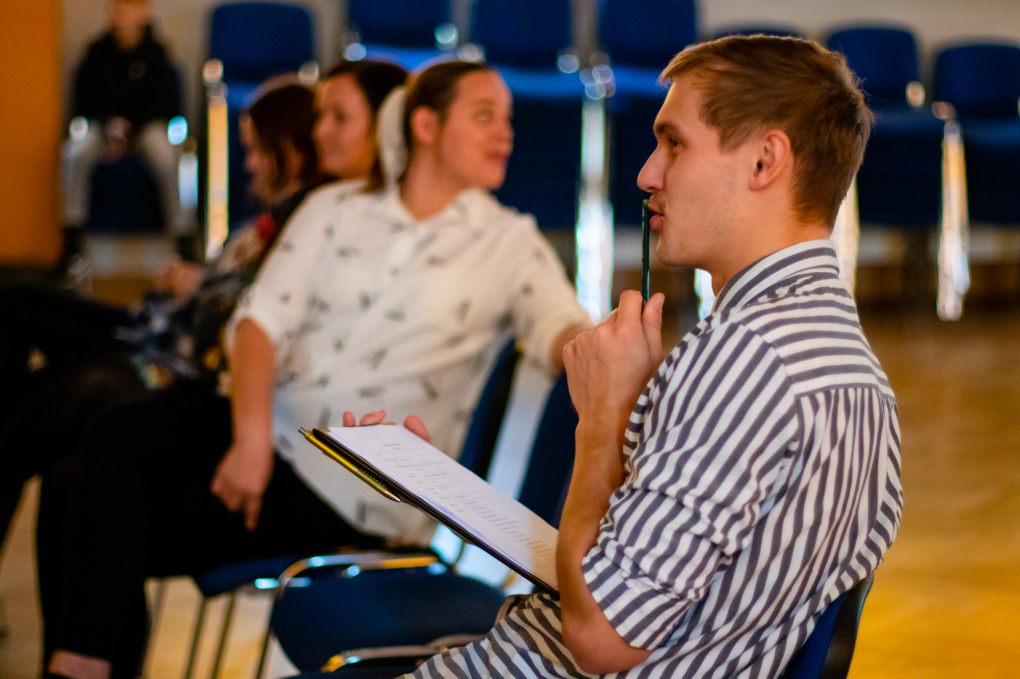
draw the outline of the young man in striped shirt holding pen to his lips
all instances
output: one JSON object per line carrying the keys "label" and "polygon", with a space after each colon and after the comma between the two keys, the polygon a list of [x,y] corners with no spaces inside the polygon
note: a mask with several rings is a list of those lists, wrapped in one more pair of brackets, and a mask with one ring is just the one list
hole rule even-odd
{"label": "young man in striped shirt holding pen to his lips", "polygon": [[734,37],[663,79],[639,185],[659,258],[709,271],[715,309],[665,361],[661,295],[567,345],[560,599],[511,599],[417,677],[776,677],[896,534],[896,402],[827,240],[872,119],[854,75]]}

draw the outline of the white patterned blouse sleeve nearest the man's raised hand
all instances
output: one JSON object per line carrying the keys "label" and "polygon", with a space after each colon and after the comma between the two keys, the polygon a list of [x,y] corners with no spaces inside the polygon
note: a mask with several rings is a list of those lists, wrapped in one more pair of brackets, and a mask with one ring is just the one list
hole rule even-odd
{"label": "white patterned blouse sleeve nearest the man's raised hand", "polygon": [[524,356],[551,369],[553,343],[566,328],[591,323],[592,317],[577,302],[556,252],[539,232],[530,216],[519,216],[511,230],[513,242],[503,248],[509,267],[511,315],[514,335]]}

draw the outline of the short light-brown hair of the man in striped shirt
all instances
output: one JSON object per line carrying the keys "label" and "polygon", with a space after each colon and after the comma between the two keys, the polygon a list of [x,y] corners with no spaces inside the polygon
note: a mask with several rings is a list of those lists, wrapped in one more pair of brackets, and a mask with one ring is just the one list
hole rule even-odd
{"label": "short light-brown hair of the man in striped shirt", "polygon": [[686,73],[698,76],[701,119],[718,130],[724,151],[765,128],[786,133],[794,210],[831,227],[874,121],[846,58],[799,38],[729,36],[683,50],[662,80]]}

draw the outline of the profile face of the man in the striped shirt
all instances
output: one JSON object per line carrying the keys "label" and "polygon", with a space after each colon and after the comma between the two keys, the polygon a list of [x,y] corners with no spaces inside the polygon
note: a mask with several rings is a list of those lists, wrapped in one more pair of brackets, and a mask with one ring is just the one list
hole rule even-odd
{"label": "profile face of the man in the striped shirt", "polygon": [[659,260],[706,268],[736,234],[747,159],[740,150],[724,153],[719,134],[700,119],[702,94],[695,77],[682,75],[670,87],[655,118],[658,145],[638,186],[651,193]]}

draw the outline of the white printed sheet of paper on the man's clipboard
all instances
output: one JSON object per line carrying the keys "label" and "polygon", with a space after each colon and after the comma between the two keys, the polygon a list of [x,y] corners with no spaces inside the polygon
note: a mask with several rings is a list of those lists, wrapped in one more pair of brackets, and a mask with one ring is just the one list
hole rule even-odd
{"label": "white printed sheet of paper on the man's clipboard", "polygon": [[335,427],[325,430],[384,476],[414,494],[447,523],[479,544],[557,588],[559,532],[534,512],[503,494],[436,448],[399,425]]}

